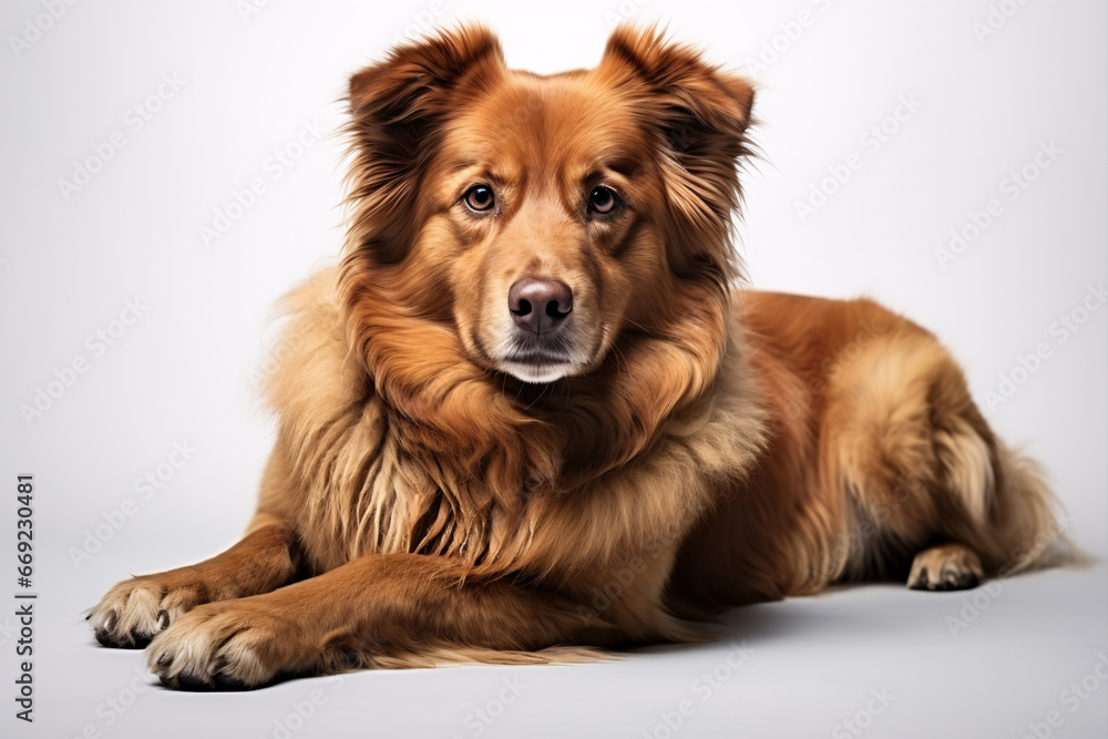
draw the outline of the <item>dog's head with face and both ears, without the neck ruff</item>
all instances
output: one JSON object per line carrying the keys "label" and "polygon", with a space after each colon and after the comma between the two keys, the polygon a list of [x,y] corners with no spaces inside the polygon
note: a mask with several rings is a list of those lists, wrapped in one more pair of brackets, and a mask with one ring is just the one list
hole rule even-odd
{"label": "dog's head with face and both ears, without the neck ruff", "polygon": [[353,246],[470,362],[587,374],[696,311],[685,283],[730,279],[751,97],[650,31],[552,76],[509,70],[481,28],[394,50],[351,80]]}

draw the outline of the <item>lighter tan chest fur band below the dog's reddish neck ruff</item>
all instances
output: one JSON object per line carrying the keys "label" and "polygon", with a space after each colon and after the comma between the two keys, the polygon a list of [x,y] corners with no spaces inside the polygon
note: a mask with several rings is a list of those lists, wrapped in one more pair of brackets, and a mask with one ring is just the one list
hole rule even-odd
{"label": "lighter tan chest fur band below the dog's reddish neck ruff", "polygon": [[[736,390],[747,380],[728,367],[719,380],[727,391],[673,419],[633,463],[582,490],[521,491],[505,504],[479,474],[406,449],[404,419],[384,407],[349,350],[334,286],[325,270],[288,296],[291,320],[269,386],[281,474],[299,506],[290,517],[316,568],[416,552],[579,578],[581,568],[602,573],[635,556],[671,560],[688,527],[761,451],[763,413],[751,392]],[[657,521],[674,525],[659,531]]]}

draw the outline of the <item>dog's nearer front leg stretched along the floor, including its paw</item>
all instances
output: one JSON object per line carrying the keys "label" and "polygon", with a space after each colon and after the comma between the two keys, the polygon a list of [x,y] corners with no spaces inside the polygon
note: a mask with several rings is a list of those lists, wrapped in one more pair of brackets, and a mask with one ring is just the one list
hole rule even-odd
{"label": "dog's nearer front leg stretched along the floor, including its paw", "polygon": [[613,645],[570,598],[443,557],[361,557],[273,593],[202,605],[155,638],[151,670],[175,688],[254,688],[291,675],[430,665],[466,649]]}

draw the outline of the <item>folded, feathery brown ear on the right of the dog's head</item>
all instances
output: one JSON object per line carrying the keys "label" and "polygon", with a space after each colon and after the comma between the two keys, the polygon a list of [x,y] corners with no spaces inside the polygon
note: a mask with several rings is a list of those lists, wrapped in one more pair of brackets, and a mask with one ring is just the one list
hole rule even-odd
{"label": "folded, feathery brown ear on the right of the dog's head", "polygon": [[632,95],[658,145],[667,196],[683,222],[673,268],[690,276],[707,270],[727,283],[740,269],[728,228],[739,203],[737,165],[749,153],[753,86],[657,29],[634,25],[612,33],[598,71]]}

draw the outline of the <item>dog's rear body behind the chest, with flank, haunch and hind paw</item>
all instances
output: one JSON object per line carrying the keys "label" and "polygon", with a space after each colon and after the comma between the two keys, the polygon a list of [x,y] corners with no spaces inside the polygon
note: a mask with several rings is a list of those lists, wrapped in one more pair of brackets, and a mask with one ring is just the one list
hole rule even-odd
{"label": "dog's rear body behind the chest, with flank, haunch and hind paw", "polygon": [[688,605],[841,579],[970,587],[1057,536],[1039,470],[993,434],[929,331],[872,300],[756,290],[736,321],[772,435],[683,548],[673,592]]}

